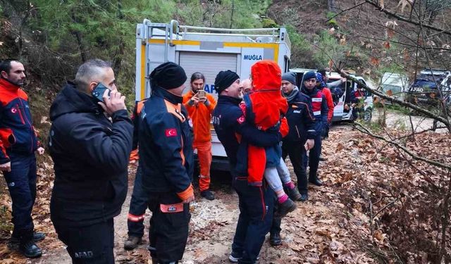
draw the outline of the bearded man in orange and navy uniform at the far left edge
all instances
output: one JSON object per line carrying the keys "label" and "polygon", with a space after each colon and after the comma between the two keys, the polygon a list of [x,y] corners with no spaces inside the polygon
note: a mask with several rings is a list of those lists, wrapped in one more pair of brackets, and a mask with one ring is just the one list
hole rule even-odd
{"label": "bearded man in orange and navy uniform at the far left edge", "polygon": [[25,68],[14,59],[0,62],[0,170],[8,184],[14,225],[11,242],[27,258],[42,255],[35,244],[45,234],[34,232],[31,212],[36,199],[36,157],[44,148],[32,125],[25,84]]}

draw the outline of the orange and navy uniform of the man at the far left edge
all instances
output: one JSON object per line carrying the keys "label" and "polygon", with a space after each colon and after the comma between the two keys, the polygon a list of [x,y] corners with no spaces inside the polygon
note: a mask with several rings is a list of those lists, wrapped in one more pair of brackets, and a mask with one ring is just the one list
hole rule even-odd
{"label": "orange and navy uniform of the man at the far left edge", "polygon": [[11,161],[4,171],[13,202],[13,237],[32,237],[31,211],[36,198],[38,141],[32,125],[28,96],[16,84],[0,79],[0,164]]}

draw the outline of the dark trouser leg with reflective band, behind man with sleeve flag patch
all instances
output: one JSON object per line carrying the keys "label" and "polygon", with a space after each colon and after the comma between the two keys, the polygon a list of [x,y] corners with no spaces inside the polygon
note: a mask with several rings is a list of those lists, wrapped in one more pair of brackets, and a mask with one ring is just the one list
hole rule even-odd
{"label": "dark trouser leg with reflective band, behind man with sleeve flag patch", "polygon": [[142,189],[141,179],[142,168],[138,165],[127,219],[128,235],[132,237],[142,237],[144,235],[144,215],[148,206],[149,197]]}

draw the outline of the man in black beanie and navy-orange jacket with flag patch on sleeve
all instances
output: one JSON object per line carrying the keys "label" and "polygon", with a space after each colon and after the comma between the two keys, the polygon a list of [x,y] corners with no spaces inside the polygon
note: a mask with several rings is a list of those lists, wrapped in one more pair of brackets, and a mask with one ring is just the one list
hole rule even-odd
{"label": "man in black beanie and navy-orange jacket with flag patch on sleeve", "polygon": [[183,258],[190,222],[192,134],[183,106],[185,70],[163,63],[150,74],[152,95],[144,103],[139,128],[142,187],[152,210],[149,251],[152,263]]}

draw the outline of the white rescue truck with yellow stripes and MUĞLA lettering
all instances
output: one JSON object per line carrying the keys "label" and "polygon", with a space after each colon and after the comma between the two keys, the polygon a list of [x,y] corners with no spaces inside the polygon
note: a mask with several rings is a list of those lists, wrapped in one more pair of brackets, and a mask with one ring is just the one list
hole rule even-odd
{"label": "white rescue truck with yellow stripes and MU\u011eLA lettering", "polygon": [[[188,76],[185,92],[190,91],[192,73],[203,73],[204,90],[218,98],[214,80],[221,70],[232,70],[240,78],[249,78],[257,61],[276,61],[283,73],[290,68],[291,43],[287,30],[280,28],[230,29],[152,23],[144,19],[136,27],[135,99],[150,96],[149,73],[161,63],[172,61],[185,69]],[[226,151],[211,125],[212,169],[228,170]]]}

